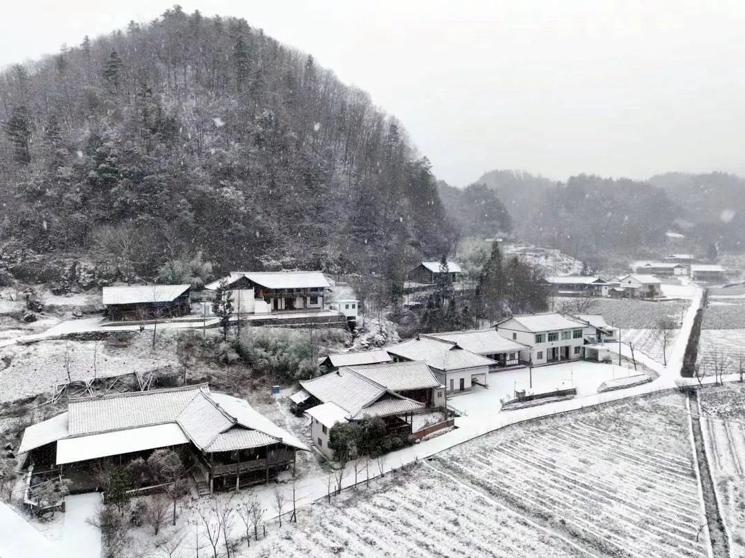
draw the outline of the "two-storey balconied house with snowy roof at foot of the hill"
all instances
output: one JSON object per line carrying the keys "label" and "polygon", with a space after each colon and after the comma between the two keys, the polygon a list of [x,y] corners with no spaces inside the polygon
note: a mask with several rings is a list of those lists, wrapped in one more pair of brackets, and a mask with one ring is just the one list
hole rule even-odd
{"label": "two-storey balconied house with snowy roof at foot of the hill", "polygon": [[238,314],[321,311],[331,288],[320,271],[232,271],[205,288],[216,291],[221,284],[232,292]]}

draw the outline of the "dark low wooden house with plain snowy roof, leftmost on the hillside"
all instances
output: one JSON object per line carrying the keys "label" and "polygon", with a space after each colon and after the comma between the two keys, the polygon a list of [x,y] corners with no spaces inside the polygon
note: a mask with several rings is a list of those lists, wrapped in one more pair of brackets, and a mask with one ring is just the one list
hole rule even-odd
{"label": "dark low wooden house with plain snowy roof, leftmost on the hillside", "polygon": [[102,302],[112,321],[173,318],[191,312],[191,285],[104,287]]}

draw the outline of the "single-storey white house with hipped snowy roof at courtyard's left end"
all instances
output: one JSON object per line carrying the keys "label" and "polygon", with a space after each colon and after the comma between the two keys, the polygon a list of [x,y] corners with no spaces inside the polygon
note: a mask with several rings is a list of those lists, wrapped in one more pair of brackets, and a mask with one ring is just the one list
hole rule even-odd
{"label": "single-storey white house with hipped snowy roof at courtyard's left end", "polygon": [[419,335],[385,348],[394,362],[425,361],[447,393],[469,391],[473,384],[489,385],[489,368],[497,361],[463,349],[454,341]]}

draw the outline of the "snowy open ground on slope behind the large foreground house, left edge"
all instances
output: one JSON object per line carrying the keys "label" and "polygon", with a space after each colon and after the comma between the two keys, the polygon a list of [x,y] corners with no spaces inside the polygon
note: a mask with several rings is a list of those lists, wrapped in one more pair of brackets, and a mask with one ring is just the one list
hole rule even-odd
{"label": "snowy open ground on slope behind the large foreground house, left edge", "polygon": [[165,354],[174,354],[172,340],[163,334],[158,339],[154,350],[150,347],[149,334],[136,336],[130,346],[122,349],[110,348],[106,343],[94,341],[63,340],[5,346],[0,349],[0,358],[9,360],[10,365],[0,370],[0,402],[50,393],[54,384],[68,381],[68,354],[73,381],[112,377],[134,371],[148,372],[175,364],[175,355],[172,360],[164,358],[164,351]]}

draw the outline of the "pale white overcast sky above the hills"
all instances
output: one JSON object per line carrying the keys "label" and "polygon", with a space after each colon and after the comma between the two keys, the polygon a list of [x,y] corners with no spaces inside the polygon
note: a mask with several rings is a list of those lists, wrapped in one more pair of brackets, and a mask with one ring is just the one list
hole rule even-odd
{"label": "pale white overcast sky above the hills", "polygon": [[[0,66],[146,22],[173,1],[10,0]],[[457,186],[493,168],[745,173],[745,2],[223,0],[367,89]]]}

